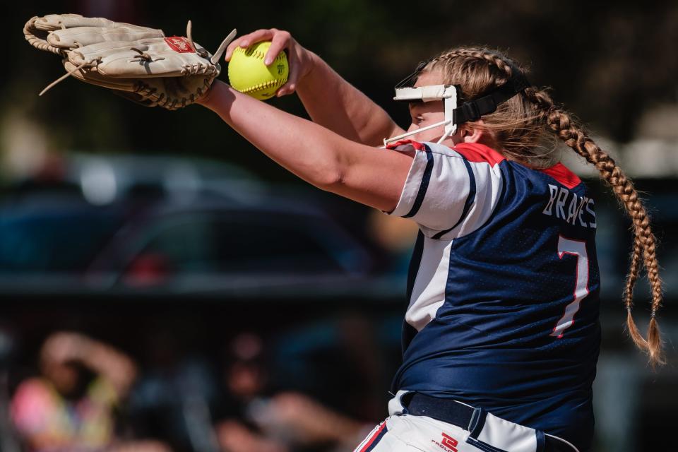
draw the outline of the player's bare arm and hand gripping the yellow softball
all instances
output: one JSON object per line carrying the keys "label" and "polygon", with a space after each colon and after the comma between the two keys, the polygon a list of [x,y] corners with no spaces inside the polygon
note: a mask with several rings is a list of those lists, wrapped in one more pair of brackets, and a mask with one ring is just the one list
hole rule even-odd
{"label": "player's bare arm and hand gripping the yellow softball", "polygon": [[383,138],[403,133],[379,105],[345,81],[318,55],[305,49],[283,30],[256,30],[230,44],[227,61],[236,47],[272,41],[265,61],[283,49],[290,60],[290,76],[278,96],[297,92],[311,119],[351,141],[381,145]]}

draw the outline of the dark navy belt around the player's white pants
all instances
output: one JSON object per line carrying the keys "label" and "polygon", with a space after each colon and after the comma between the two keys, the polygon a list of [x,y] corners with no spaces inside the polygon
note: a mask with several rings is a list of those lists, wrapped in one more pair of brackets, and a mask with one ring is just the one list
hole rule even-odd
{"label": "dark navy belt around the player's white pants", "polygon": [[[478,427],[477,421],[481,417],[481,410],[464,405],[456,400],[427,396],[422,393],[405,393],[403,398],[400,399],[400,403],[403,404],[410,415],[432,417],[469,432],[474,430],[473,427]],[[480,427],[482,428],[482,425]]]}

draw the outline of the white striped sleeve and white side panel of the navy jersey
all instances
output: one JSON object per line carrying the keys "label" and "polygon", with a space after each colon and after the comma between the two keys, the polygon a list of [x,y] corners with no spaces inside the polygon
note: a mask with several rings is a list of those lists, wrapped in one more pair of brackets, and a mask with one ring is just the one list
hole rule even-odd
{"label": "white striped sleeve and white side panel of the navy jersey", "polygon": [[405,314],[405,321],[421,331],[445,302],[453,239],[482,227],[499,202],[501,170],[494,162],[471,161],[445,145],[403,143],[395,149],[415,150],[391,215],[412,218],[424,235]]}

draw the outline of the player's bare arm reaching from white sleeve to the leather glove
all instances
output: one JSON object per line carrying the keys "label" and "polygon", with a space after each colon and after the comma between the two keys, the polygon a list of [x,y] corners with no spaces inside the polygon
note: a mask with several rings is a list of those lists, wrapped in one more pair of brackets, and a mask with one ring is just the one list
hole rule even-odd
{"label": "player's bare arm reaching from white sleeve to the leather glove", "polygon": [[305,181],[367,206],[396,208],[413,154],[356,143],[220,81],[198,103]]}

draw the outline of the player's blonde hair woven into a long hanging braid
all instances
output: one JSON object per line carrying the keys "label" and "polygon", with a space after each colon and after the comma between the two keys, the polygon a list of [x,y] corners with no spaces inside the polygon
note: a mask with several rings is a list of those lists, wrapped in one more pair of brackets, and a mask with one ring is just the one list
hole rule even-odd
{"label": "player's blonde hair woven into a long hanging braid", "polygon": [[[475,99],[489,90],[504,85],[512,71],[525,72],[518,64],[499,52],[482,48],[461,47],[442,52],[429,61],[424,71],[441,71],[444,83],[458,85],[461,101]],[[624,285],[626,326],[636,346],[647,352],[650,364],[664,364],[657,311],[662,304],[662,282],[656,256],[656,240],[650,227],[645,206],[638,198],[631,179],[604,150],[583,130],[581,124],[561,107],[554,105],[547,90],[527,88],[500,104],[496,112],[482,117],[483,124],[467,123],[473,129],[480,127],[492,134],[499,150],[507,158],[523,162],[530,167],[553,165],[552,150],[545,150],[549,138],[557,138],[595,166],[600,177],[614,191],[619,202],[633,222],[634,246],[631,252],[629,273]],[[554,149],[554,146],[550,147]],[[641,271],[647,270],[652,295],[650,324],[647,339],[638,331],[631,315],[634,286]]]}

